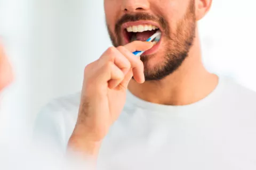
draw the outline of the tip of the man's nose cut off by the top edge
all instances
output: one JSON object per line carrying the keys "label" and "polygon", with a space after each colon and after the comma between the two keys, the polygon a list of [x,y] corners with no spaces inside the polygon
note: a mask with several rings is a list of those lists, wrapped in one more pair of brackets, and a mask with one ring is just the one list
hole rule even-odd
{"label": "tip of the man's nose cut off by the top edge", "polygon": [[149,10],[148,0],[123,0],[122,10],[128,13]]}

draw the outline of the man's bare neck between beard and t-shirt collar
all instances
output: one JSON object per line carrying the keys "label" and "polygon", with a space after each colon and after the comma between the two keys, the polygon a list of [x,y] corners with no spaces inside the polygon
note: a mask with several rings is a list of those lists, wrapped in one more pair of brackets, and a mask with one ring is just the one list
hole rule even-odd
{"label": "man's bare neck between beard and t-shirt collar", "polygon": [[217,84],[217,75],[209,73],[203,66],[197,32],[188,57],[177,71],[162,80],[143,84],[131,80],[128,89],[133,95],[151,103],[188,105],[205,98]]}

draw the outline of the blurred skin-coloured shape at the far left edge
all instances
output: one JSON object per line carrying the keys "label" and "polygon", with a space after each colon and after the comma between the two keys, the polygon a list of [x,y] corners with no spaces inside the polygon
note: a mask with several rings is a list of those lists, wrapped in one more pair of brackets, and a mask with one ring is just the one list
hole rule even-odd
{"label": "blurred skin-coloured shape at the far left edge", "polygon": [[0,92],[13,80],[11,65],[0,44]]}

